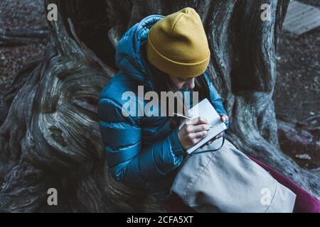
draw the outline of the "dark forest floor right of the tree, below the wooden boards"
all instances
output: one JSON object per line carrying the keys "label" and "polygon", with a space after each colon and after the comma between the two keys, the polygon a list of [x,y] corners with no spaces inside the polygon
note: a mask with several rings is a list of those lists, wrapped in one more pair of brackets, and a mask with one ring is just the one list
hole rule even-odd
{"label": "dark forest floor right of the tree, below the wooden boards", "polygon": [[[299,0],[320,8],[319,0]],[[296,36],[284,31],[279,40],[277,81],[274,88],[274,106],[277,118],[293,125],[307,118],[309,128],[320,126],[320,27]],[[279,137],[279,143],[287,155],[304,168],[320,167],[320,135],[314,133],[314,149],[303,150],[301,146],[289,145]],[[309,155],[311,160],[297,158]]]}

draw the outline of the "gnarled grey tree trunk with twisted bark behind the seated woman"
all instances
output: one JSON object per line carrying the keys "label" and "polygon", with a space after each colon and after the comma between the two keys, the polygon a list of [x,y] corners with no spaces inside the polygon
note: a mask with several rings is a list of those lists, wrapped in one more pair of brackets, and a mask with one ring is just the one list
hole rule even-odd
{"label": "gnarled grey tree trunk with twisted bark behind the seated woman", "polygon": [[[10,108],[0,119],[1,211],[165,211],[108,175],[97,99],[117,71],[114,46],[124,32],[144,16],[186,6],[203,19],[212,53],[208,73],[230,116],[228,140],[320,196],[320,170],[298,167],[277,140],[272,92],[288,0],[45,3],[58,4],[60,12],[48,22],[46,56],[16,76],[4,100]],[[260,19],[265,3],[271,21]],[[52,187],[55,207],[47,205]]]}

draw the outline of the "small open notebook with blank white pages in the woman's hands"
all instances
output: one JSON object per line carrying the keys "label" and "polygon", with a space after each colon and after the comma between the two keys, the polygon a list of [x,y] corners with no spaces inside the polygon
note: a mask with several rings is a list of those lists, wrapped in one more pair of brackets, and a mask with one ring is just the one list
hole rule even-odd
{"label": "small open notebook with blank white pages in the woman's hands", "polygon": [[208,99],[203,99],[196,106],[193,106],[193,108],[189,109],[188,116],[191,118],[206,118],[210,126],[213,126],[212,128],[210,128],[205,138],[200,140],[193,147],[186,150],[188,154],[193,153],[193,151],[197,150],[203,144],[207,143],[216,135],[219,135],[227,129],[227,126],[225,126],[225,123],[221,121],[220,115],[217,113],[217,111],[215,111],[214,107],[212,106],[210,101],[208,101]]}

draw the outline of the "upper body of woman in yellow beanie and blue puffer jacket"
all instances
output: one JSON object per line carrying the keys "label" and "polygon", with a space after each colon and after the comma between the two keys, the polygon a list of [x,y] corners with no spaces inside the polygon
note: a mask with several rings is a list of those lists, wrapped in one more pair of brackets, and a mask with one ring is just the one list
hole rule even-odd
{"label": "upper body of woman in yellow beanie and blue puffer jacket", "polygon": [[[198,92],[199,100],[210,100],[221,121],[229,126],[221,97],[205,72],[209,61],[206,33],[192,8],[166,17],[147,16],[123,35],[116,51],[119,72],[102,90],[99,104],[102,142],[115,179],[146,189],[159,201],[168,201],[178,167],[187,156],[185,150],[205,137],[210,128],[203,118],[186,121],[179,129],[181,118],[169,113],[129,114],[124,109],[125,92],[136,96],[132,100],[138,109],[149,101],[138,97],[139,86],[144,92],[158,94]],[[161,108],[164,106],[159,106],[159,111]]]}

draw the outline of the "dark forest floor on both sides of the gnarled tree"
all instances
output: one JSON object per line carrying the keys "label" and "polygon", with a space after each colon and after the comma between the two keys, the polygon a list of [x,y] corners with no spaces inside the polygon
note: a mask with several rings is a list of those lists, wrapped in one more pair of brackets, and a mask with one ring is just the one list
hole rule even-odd
{"label": "dark forest floor on both sides of the gnarled tree", "polygon": [[[320,7],[318,0],[302,2]],[[0,31],[39,27],[46,27],[42,0],[0,1]],[[279,42],[277,82],[273,96],[277,118],[295,124],[320,114],[319,41],[320,28],[299,36],[284,31]],[[0,45],[0,99],[23,65],[43,55],[45,49],[45,43],[6,47]],[[320,122],[311,121],[311,124],[319,127]],[[300,166],[320,167],[319,150],[296,150],[285,144],[280,140],[284,153]],[[301,160],[296,157],[298,154],[308,154],[311,160]]]}

